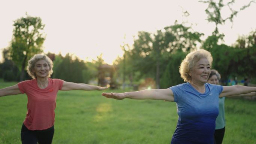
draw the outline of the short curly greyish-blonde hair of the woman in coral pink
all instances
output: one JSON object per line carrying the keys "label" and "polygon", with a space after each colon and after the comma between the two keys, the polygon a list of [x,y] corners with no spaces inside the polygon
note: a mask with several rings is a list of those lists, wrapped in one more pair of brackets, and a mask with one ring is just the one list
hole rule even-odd
{"label": "short curly greyish-blonde hair of the woman in coral pink", "polygon": [[47,56],[47,55],[43,55],[43,54],[36,54],[33,56],[33,58],[31,58],[28,61],[28,66],[27,66],[27,73],[30,77],[32,77],[33,79],[36,79],[36,73],[33,72],[33,69],[35,67],[35,64],[37,61],[40,60],[45,60],[49,66],[49,74],[48,77],[51,77],[51,74],[53,73],[53,62],[52,60]]}

